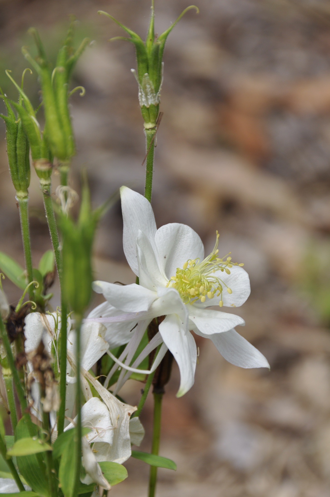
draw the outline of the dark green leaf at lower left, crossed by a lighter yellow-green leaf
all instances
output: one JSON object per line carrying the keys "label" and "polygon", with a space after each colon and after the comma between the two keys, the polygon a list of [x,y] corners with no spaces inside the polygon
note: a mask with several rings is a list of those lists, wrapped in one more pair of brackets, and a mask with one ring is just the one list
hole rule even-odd
{"label": "dark green leaf at lower left, crossed by a lighter yellow-green leaf", "polygon": [[[34,434],[38,434],[38,427],[33,424]],[[21,438],[27,438],[30,436],[29,430],[27,428],[25,417],[22,417],[15,429],[15,440],[20,440]],[[31,454],[29,456],[19,456],[17,457],[17,466],[19,473],[23,476],[26,483],[35,492],[37,492],[42,497],[48,497],[48,483],[46,480],[46,467],[39,466],[38,456]],[[39,456],[41,457],[41,455]],[[22,493],[20,493],[22,494]],[[2,496],[1,496],[2,497]]]}

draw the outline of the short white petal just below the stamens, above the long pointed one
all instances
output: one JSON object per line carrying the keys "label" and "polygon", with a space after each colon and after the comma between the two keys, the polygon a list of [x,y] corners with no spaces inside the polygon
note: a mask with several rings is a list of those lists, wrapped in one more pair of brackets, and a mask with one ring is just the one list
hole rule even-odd
{"label": "short white petal just below the stamens, above the long pointed one", "polygon": [[231,330],[234,326],[244,326],[245,324],[244,319],[236,314],[213,311],[212,309],[199,309],[193,305],[187,307],[190,321],[206,335],[223,333]]}

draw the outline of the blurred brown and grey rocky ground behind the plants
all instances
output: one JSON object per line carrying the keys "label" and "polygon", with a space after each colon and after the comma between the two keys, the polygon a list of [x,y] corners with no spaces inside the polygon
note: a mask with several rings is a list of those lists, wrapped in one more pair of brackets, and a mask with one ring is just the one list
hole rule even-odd
{"label": "blurred brown and grey rocky ground behind the plants", "polygon": [[[156,0],[162,32],[186,0]],[[239,331],[268,358],[270,372],[228,364],[208,340],[196,382],[181,399],[176,366],[164,400],[159,496],[330,496],[330,3],[328,0],[202,0],[165,48],[153,207],[158,226],[190,225],[206,251],[245,262],[251,296],[236,311]],[[149,0],[1,0],[0,85],[15,91],[26,67],[22,45],[34,25],[55,56],[68,15],[77,41],[89,36],[75,72],[84,97],[72,97],[78,154],[72,185],[88,170],[95,205],[122,184],[143,192],[143,123],[133,46],[103,9],[146,33]],[[40,95],[35,75],[25,88]],[[0,249],[23,263],[18,211],[0,140]],[[54,191],[58,179],[54,177]],[[32,171],[31,234],[35,263],[50,248],[38,181]],[[96,275],[134,281],[122,250],[117,203],[95,244]],[[10,302],[18,295],[7,281]],[[95,301],[96,302],[96,301]],[[142,384],[123,396],[136,403]],[[150,426],[152,402],[143,422]],[[142,450],[150,450],[147,430]],[[148,468],[127,463],[129,479],[113,496],[146,495]]]}

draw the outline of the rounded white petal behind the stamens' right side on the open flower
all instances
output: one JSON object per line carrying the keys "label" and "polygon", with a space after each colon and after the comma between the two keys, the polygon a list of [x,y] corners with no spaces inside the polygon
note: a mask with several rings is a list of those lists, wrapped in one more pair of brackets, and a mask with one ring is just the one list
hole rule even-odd
{"label": "rounded white petal behind the stamens' right side on the open flower", "polygon": [[[248,273],[243,267],[233,266],[230,269],[230,274],[225,271],[216,271],[212,276],[217,276],[224,281],[226,285],[232,290],[233,293],[227,292],[226,286],[223,286],[222,301],[224,306],[227,307],[240,307],[247,300],[250,294],[250,280]],[[219,305],[220,297],[213,297],[213,299],[206,299],[202,303],[198,303],[198,307],[209,307]]]}

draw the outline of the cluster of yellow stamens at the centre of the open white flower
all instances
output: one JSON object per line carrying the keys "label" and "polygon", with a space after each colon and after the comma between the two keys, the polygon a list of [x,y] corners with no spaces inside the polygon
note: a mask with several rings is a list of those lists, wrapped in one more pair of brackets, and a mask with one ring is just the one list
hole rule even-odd
{"label": "cluster of yellow stamens at the centre of the open white flower", "polygon": [[171,276],[168,281],[166,286],[175,288],[185,304],[193,304],[198,300],[205,302],[207,298],[213,299],[217,296],[220,297],[219,306],[222,307],[224,288],[229,294],[233,293],[232,289],[214,273],[220,270],[230,274],[231,267],[244,264],[232,262],[231,252],[224,257],[218,257],[218,243],[219,233],[217,231],[216,243],[210,255],[202,261],[199,258],[187,260],[182,269],[177,268],[175,276]]}

